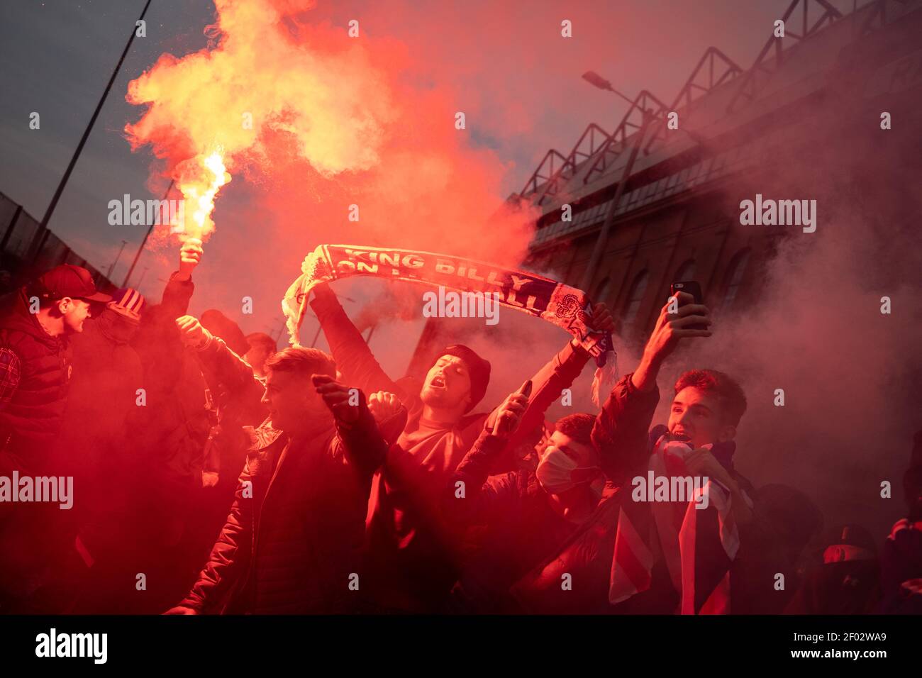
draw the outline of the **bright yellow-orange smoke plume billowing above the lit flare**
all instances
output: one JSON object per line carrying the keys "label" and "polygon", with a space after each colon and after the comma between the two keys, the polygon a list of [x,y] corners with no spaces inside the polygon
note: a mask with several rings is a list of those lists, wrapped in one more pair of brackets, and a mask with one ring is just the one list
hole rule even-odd
{"label": "bright yellow-orange smoke plume billowing above the lit flare", "polygon": [[[247,200],[258,201],[258,228],[227,226],[243,231],[251,252],[267,236],[297,258],[314,244],[350,242],[514,265],[527,215],[495,214],[503,167],[456,129],[463,108],[447,89],[408,84],[404,45],[361,26],[351,38],[347,27],[310,23],[312,5],[218,0],[207,49],[164,54],[130,84],[128,100],[148,104],[126,126],[133,147],[149,144],[168,175],[222,149],[231,176],[260,186]],[[219,232],[222,221],[236,219],[217,217]]]}

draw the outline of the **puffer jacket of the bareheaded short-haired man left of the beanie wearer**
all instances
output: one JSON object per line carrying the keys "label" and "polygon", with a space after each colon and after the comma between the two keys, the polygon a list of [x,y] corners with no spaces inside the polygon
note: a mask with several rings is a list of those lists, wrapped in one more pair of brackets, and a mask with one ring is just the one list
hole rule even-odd
{"label": "puffer jacket of the bareheaded short-haired man left of the beanie wearer", "polygon": [[360,418],[299,443],[264,422],[231,513],[189,595],[199,613],[344,613],[358,606],[372,474],[386,444],[361,397]]}

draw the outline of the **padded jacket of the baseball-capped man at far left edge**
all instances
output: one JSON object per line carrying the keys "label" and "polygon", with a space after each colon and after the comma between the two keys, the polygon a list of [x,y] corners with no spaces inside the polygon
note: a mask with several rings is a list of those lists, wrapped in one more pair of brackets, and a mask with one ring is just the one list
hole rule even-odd
{"label": "padded jacket of the baseball-capped man at far left edge", "polygon": [[19,385],[0,410],[0,474],[41,473],[61,430],[71,375],[70,343],[29,312],[25,288],[0,300],[0,348],[16,353]]}

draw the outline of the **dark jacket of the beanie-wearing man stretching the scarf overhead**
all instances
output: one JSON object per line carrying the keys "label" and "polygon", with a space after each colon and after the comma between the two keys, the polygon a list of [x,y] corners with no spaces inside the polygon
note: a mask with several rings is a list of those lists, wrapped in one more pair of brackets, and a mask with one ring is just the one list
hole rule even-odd
{"label": "dark jacket of the beanie-wearing man stretching the scarf overhead", "polygon": [[[384,467],[372,483],[368,551],[374,565],[374,589],[388,610],[432,612],[443,604],[457,578],[455,534],[441,520],[445,482],[477,440],[491,414],[468,414],[454,426],[426,422],[420,384],[392,380],[377,363],[368,344],[352,325],[336,295],[320,286],[311,307],[344,379],[368,392],[396,394],[408,410],[403,434],[388,451]],[[532,377],[532,393],[519,429],[512,436],[497,470],[514,468],[512,450],[544,421],[544,412],[573,384],[588,362],[585,351],[568,343]]]}

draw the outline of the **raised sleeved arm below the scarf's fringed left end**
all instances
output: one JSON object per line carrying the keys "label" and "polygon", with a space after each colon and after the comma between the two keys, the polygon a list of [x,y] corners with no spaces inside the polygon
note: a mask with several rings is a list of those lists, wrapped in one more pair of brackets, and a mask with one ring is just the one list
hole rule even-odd
{"label": "raised sleeved arm below the scarf's fringed left end", "polygon": [[389,391],[406,402],[409,394],[384,373],[374,359],[372,351],[361,338],[361,333],[349,320],[337,295],[328,285],[313,288],[311,308],[324,329],[324,336],[330,345],[333,360],[347,384],[361,388],[366,393]]}

